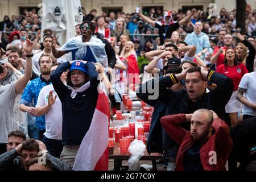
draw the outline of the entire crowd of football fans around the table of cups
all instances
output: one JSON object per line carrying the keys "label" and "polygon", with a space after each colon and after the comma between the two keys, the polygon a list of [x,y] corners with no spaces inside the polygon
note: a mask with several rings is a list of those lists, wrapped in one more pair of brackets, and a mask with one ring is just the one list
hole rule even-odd
{"label": "entire crowd of football fans around the table of cups", "polygon": [[256,10],[245,35],[224,8],[82,14],[63,45],[36,10],[0,22],[1,170],[72,170],[100,82],[111,119],[126,93],[154,107],[147,152],[168,171],[255,163]]}

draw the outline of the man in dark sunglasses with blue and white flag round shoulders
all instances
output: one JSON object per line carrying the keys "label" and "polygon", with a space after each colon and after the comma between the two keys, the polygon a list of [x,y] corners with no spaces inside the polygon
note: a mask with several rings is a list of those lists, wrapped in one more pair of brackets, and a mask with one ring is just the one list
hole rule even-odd
{"label": "man in dark sunglasses with blue and white flag round shoulders", "polygon": [[116,62],[115,52],[111,45],[106,43],[107,41],[104,44],[102,43],[104,40],[95,36],[96,25],[85,21],[80,24],[80,30],[81,36],[69,39],[60,49],[56,49],[56,42],[53,41],[53,56],[59,58],[65,53],[71,52],[72,60],[88,60],[94,63],[99,61],[105,68],[109,67],[111,71]]}

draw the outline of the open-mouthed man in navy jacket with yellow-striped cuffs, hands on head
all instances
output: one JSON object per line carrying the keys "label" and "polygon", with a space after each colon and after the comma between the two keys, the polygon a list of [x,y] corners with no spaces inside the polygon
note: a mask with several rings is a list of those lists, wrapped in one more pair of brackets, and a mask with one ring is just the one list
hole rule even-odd
{"label": "open-mouthed man in navy jacket with yellow-striped cuffs, hands on head", "polygon": [[[175,92],[167,89],[183,79],[186,90]],[[217,84],[217,88],[207,93],[207,81]],[[232,89],[233,83],[230,78],[203,67],[192,67],[179,74],[147,81],[137,90],[137,96],[151,106],[154,106],[157,100],[162,101],[168,106],[166,114],[193,113],[197,109],[205,108],[215,111],[224,119],[224,107],[232,95]],[[150,99],[150,96],[155,96],[154,94],[158,97]]]}

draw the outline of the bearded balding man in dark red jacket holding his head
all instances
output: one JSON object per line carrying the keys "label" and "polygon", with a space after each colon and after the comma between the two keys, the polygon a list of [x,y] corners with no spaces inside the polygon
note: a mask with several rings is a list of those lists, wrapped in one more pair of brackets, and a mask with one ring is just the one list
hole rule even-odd
{"label": "bearded balding man in dark red jacket holding his head", "polygon": [[[191,131],[180,125],[190,122]],[[225,171],[232,149],[228,125],[212,110],[199,109],[193,114],[173,114],[161,118],[164,130],[180,145],[177,171]],[[213,134],[214,130],[214,134]]]}

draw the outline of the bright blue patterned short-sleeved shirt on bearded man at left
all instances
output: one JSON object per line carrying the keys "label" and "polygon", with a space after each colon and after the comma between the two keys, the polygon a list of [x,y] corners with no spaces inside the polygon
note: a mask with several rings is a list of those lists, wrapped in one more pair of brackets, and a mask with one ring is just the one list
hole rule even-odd
{"label": "bright blue patterned short-sleeved shirt on bearded man at left", "polygon": [[[38,102],[38,96],[40,93],[40,90],[46,86],[51,84],[51,80],[46,81],[42,75],[39,78],[35,78],[34,80],[28,82],[23,94],[22,98],[20,100],[20,104],[24,104],[26,106],[29,106],[32,101],[34,101],[34,106],[36,105],[36,102]],[[46,129],[46,119],[44,115],[40,117],[36,117],[36,126],[38,126],[39,130],[45,130]]]}

